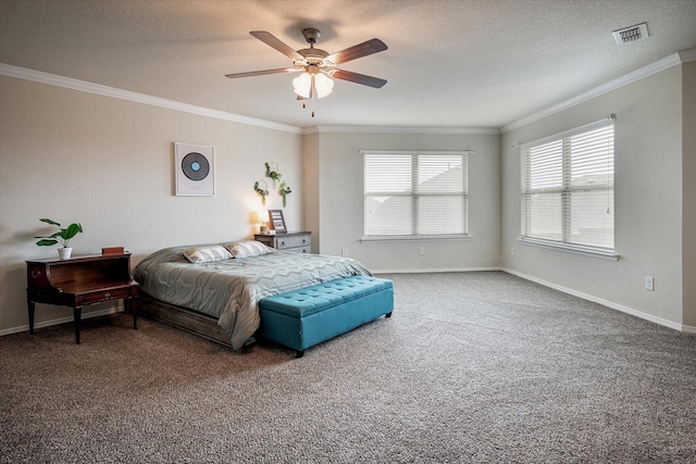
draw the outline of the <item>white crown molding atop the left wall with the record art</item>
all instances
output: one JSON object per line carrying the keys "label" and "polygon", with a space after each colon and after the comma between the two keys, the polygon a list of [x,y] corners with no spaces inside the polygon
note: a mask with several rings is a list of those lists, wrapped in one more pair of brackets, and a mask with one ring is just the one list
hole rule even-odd
{"label": "white crown molding atop the left wall with the record art", "polygon": [[18,79],[33,80],[35,83],[48,84],[50,86],[63,87],[88,93],[100,95],[103,97],[116,98],[120,100],[126,100],[136,103],[148,104],[151,106],[164,108],[166,110],[181,111],[183,113],[197,114],[199,116],[231,121],[249,126],[264,127],[268,129],[282,130],[293,134],[301,133],[301,129],[299,127],[289,126],[286,124],[278,124],[270,121],[257,120],[254,117],[241,116],[239,114],[227,113],[224,111],[211,110],[209,108],[196,106],[194,104],[182,103],[178,101],[166,100],[145,93],[102,86],[100,84],[88,83],[86,80],[74,79],[72,77],[58,76],[55,74],[44,73],[41,71],[27,70],[25,67],[13,66],[5,63],[0,63],[0,75],[16,77]]}

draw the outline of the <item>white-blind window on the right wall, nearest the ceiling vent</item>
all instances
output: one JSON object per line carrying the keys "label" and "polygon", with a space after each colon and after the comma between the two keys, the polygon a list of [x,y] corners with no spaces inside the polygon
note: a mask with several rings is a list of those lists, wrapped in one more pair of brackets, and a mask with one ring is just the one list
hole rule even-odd
{"label": "white-blind window on the right wall, nearest the ceiling vent", "polygon": [[611,252],[613,124],[522,147],[522,239]]}

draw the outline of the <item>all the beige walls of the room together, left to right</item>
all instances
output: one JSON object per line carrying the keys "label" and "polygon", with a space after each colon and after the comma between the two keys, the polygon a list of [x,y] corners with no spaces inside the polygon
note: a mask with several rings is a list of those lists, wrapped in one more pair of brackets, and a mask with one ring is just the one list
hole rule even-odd
{"label": "all the beige walls of the room together, left to right", "polygon": [[[498,134],[258,127],[0,76],[0,335],[26,328],[25,260],[39,217],[79,221],[76,253],[124,246],[133,264],[166,246],[256,231],[253,183],[274,161],[293,188],[289,229],[313,252],[378,272],[496,268],[657,323],[696,330],[696,63],[673,66]],[[617,262],[521,244],[520,142],[617,113]],[[174,142],[215,147],[215,196],[174,196]],[[474,150],[465,241],[361,242],[361,149]],[[265,208],[282,208],[273,193]],[[425,249],[419,255],[419,248]],[[644,277],[655,277],[655,291]],[[97,308],[99,310],[101,308]],[[109,309],[109,308],[107,308]],[[40,305],[37,324],[70,317]]]}

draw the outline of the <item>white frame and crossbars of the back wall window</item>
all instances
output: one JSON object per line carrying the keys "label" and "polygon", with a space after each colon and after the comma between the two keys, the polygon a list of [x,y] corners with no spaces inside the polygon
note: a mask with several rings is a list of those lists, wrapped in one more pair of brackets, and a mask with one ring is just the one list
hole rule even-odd
{"label": "white frame and crossbars of the back wall window", "polygon": [[[469,235],[469,155],[473,153],[472,150],[366,150],[363,149],[360,151],[362,154],[362,171],[363,171],[363,237],[360,239],[361,241],[411,241],[411,240],[468,240],[470,238]],[[408,190],[394,192],[389,190],[372,190],[368,191],[368,163],[366,159],[369,155],[395,155],[395,156],[410,156],[410,186]],[[423,190],[419,190],[418,185],[418,176],[419,176],[419,156],[451,156],[457,155],[461,156],[462,162],[462,187],[461,190],[449,191],[449,192],[427,192]],[[419,210],[418,199],[419,198],[434,198],[438,196],[448,196],[451,197],[456,195],[457,197],[462,199],[462,233],[461,234],[417,234],[418,231],[418,223],[419,223],[419,214],[421,211]],[[368,200],[370,197],[407,197],[413,199],[414,201],[411,204],[412,216],[411,216],[411,226],[413,234],[368,234]]]}

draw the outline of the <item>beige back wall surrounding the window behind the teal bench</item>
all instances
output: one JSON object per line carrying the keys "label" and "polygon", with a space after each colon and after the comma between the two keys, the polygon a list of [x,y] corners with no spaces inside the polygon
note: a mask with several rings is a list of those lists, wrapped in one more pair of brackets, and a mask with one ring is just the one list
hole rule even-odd
{"label": "beige back wall surrounding the window behind the teal bench", "polygon": [[[374,272],[492,268],[500,264],[500,156],[496,134],[331,131],[318,137],[319,251],[343,249]],[[469,155],[469,224],[464,241],[361,242],[363,185],[361,149],[474,150]],[[419,254],[419,248],[425,254]]]}

